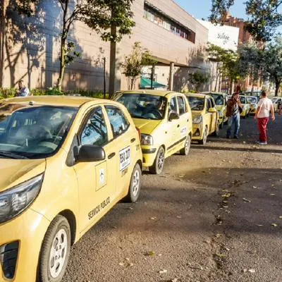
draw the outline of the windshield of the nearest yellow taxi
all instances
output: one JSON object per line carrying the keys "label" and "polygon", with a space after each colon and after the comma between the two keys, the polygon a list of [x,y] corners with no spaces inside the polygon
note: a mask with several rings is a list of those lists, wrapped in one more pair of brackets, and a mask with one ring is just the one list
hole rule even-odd
{"label": "windshield of the nearest yellow taxi", "polygon": [[0,158],[42,159],[65,140],[78,109],[0,104]]}

